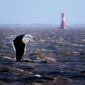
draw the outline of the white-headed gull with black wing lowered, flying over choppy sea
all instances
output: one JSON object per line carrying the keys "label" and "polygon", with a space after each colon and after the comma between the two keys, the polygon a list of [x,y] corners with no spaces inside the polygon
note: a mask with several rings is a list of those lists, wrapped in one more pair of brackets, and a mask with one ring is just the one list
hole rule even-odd
{"label": "white-headed gull with black wing lowered, flying over choppy sea", "polygon": [[22,59],[26,51],[26,44],[33,41],[33,36],[30,34],[19,35],[13,40],[13,48],[16,51],[16,62]]}

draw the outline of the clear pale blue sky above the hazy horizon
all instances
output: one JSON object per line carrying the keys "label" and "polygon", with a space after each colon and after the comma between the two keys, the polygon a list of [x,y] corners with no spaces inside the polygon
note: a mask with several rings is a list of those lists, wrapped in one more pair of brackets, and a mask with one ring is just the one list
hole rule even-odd
{"label": "clear pale blue sky above the hazy horizon", "polygon": [[0,0],[0,24],[85,24],[85,0]]}

